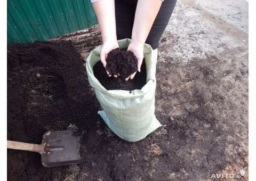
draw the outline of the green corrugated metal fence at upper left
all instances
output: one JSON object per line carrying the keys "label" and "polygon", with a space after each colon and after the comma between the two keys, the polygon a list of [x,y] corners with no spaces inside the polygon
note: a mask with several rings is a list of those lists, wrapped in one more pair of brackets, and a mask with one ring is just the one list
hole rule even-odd
{"label": "green corrugated metal fence at upper left", "polygon": [[47,40],[97,23],[90,0],[7,0],[7,43]]}

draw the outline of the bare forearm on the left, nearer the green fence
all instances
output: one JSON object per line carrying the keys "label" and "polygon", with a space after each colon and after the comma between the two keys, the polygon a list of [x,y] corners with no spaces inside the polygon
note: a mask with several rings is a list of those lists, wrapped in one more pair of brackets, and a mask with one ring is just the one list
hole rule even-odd
{"label": "bare forearm on the left, nearer the green fence", "polygon": [[92,5],[99,22],[103,43],[117,40],[115,1],[100,0],[92,3]]}

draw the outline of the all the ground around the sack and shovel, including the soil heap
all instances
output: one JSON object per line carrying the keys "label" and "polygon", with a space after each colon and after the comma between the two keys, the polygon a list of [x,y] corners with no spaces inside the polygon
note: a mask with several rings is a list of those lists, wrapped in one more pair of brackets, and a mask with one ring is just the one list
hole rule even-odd
{"label": "all the ground around the sack and shovel, including the soil heap", "polygon": [[158,49],[155,114],[166,126],[135,143],[97,114],[76,52],[86,59],[101,44],[97,27],[61,43],[9,46],[7,139],[41,143],[47,130],[76,129],[83,162],[44,168],[38,153],[7,150],[7,179],[248,180],[248,31],[237,27],[243,19],[236,26],[225,19],[222,7],[216,13],[178,1]]}

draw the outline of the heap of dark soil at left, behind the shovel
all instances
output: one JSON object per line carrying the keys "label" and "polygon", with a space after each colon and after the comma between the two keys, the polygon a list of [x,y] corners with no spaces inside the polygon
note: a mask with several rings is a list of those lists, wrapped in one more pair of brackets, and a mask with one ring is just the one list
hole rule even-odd
{"label": "heap of dark soil at left, behind the shovel", "polygon": [[[84,63],[71,42],[7,44],[7,139],[41,144],[48,130],[96,131],[100,106]],[[44,168],[38,153],[7,150],[7,180],[64,180],[68,168]]]}

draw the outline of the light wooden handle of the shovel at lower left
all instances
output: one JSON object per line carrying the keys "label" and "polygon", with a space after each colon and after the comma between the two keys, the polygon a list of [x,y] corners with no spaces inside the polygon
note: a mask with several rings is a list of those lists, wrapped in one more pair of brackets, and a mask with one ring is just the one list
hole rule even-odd
{"label": "light wooden handle of the shovel at lower left", "polygon": [[44,152],[44,145],[7,140],[7,149],[26,150],[26,151],[38,152],[42,154]]}

